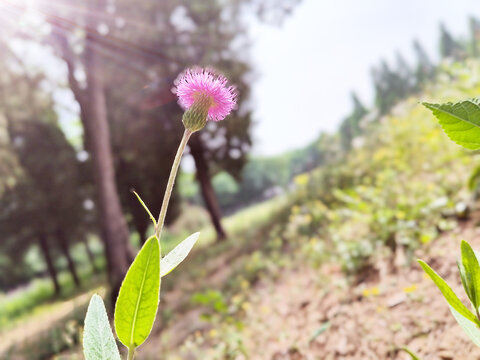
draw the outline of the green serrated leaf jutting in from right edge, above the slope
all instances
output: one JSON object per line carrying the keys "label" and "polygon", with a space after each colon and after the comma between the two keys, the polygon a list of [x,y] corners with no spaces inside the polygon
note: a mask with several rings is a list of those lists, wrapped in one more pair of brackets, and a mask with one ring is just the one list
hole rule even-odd
{"label": "green serrated leaf jutting in from right edge, above the slope", "polygon": [[457,103],[423,105],[432,110],[445,133],[457,144],[472,150],[480,149],[480,103],[478,99]]}

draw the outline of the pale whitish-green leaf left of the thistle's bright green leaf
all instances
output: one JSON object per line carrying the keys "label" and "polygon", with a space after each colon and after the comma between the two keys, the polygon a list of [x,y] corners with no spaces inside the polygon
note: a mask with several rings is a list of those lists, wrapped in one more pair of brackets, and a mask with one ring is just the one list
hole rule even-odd
{"label": "pale whitish-green leaf left of the thistle's bright green leaf", "polygon": [[93,295],[88,305],[83,332],[83,353],[86,360],[120,360],[103,300]]}

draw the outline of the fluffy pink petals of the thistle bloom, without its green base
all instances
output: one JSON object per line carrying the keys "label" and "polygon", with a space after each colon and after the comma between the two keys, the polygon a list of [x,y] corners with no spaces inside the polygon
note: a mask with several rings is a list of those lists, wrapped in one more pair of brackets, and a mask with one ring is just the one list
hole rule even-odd
{"label": "fluffy pink petals of the thistle bloom, without its green base", "polygon": [[185,110],[195,102],[208,106],[208,119],[223,120],[234,109],[237,94],[234,86],[227,86],[227,79],[211,69],[187,69],[176,80],[174,92],[178,103]]}

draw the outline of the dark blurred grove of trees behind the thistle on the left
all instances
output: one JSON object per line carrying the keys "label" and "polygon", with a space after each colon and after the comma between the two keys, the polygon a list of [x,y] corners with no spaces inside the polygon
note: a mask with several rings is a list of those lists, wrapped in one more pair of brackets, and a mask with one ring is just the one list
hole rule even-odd
{"label": "dark blurred grove of trees behind the thistle on the left", "polygon": [[[45,272],[59,293],[59,267],[80,285],[71,249],[83,246],[97,271],[88,241],[97,235],[115,294],[133,259],[130,233],[144,241],[148,231],[131,190],[148,199],[154,213],[160,209],[183,131],[171,89],[188,66],[217,68],[240,94],[229,121],[209,124],[189,146],[202,202],[224,239],[211,178],[226,172],[240,181],[252,145],[243,17],[253,12],[277,23],[298,0],[55,0],[34,8],[7,2],[12,23],[33,13],[39,24],[35,35],[18,26],[0,34],[0,157],[6,159],[0,165],[0,287]],[[18,47],[32,46],[51,51],[66,69],[83,129],[80,149],[59,125],[50,89],[60,84],[19,54]],[[178,216],[179,203],[175,193],[168,222]],[[32,251],[42,255],[44,268],[31,266]]]}

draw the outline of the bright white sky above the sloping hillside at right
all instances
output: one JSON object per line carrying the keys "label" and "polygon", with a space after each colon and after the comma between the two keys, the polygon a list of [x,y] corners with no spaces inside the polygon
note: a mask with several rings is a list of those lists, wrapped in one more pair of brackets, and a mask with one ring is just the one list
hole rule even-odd
{"label": "bright white sky above the sloping hillside at right", "polygon": [[413,39],[438,54],[439,24],[466,37],[475,0],[303,0],[282,27],[255,25],[252,61],[255,154],[302,147],[351,110],[350,91],[370,106],[370,69],[399,51],[413,63]]}

